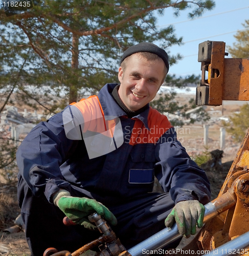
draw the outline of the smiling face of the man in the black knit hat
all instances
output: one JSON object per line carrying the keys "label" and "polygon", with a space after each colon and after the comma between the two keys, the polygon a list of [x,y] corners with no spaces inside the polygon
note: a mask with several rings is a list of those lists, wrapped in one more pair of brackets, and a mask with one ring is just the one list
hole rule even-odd
{"label": "smiling face of the man in the black knit hat", "polygon": [[127,108],[136,111],[149,103],[163,83],[165,64],[162,59],[150,62],[135,53],[119,68],[119,96]]}

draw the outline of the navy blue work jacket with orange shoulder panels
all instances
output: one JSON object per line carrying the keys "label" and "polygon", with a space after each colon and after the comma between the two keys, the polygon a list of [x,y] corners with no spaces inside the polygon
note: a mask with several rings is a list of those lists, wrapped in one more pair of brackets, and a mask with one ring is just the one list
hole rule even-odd
{"label": "navy blue work jacket with orange shoulder panels", "polygon": [[[143,113],[127,118],[111,96],[116,85],[106,84],[96,99],[103,116],[120,120],[123,143],[105,155],[89,158],[85,139],[66,136],[62,111],[40,122],[19,146],[19,187],[26,184],[34,196],[51,203],[52,195],[63,188],[72,196],[95,198],[108,206],[146,196],[156,176],[175,203],[193,199],[209,202],[207,176],[177,141],[167,117],[148,104]],[[88,108],[88,102],[86,99],[82,104]],[[84,111],[82,104],[75,105],[79,112]],[[64,112],[71,113],[69,108],[71,111],[72,105]],[[28,200],[25,191],[19,191],[18,197],[20,206],[25,197]]]}

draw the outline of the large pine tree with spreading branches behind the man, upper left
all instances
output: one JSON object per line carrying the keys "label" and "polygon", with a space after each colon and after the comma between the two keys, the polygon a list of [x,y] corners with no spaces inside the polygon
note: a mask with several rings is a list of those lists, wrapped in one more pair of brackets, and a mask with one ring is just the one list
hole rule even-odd
{"label": "large pine tree with spreading branches behind the man, upper left", "polygon": [[[46,108],[54,111],[59,102],[48,103],[62,90],[69,100],[62,104],[67,104],[117,81],[120,56],[129,46],[141,41],[156,41],[165,49],[182,44],[172,26],[156,28],[155,11],[163,15],[174,8],[178,15],[189,8],[189,16],[195,17],[213,6],[211,0],[46,0],[8,18],[2,10],[0,74],[8,75],[1,84],[10,86],[5,96],[15,91],[18,100],[33,99],[43,107],[47,102]],[[171,64],[179,58],[170,56]]]}

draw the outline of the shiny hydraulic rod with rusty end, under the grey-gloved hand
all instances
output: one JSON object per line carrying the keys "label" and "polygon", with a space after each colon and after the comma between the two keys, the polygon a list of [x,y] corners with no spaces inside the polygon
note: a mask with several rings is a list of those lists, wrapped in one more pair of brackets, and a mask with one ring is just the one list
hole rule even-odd
{"label": "shiny hydraulic rod with rusty end, under the grey-gloved hand", "polygon": [[[213,219],[217,215],[221,214],[221,212],[228,210],[235,204],[236,197],[234,196],[234,190],[230,188],[227,193],[205,205],[205,216],[203,222]],[[164,228],[150,238],[128,249],[128,252],[132,256],[142,256],[144,254],[149,255],[150,253],[147,253],[147,251],[160,249],[180,237],[182,237],[182,234],[179,234],[175,223],[171,228]]]}

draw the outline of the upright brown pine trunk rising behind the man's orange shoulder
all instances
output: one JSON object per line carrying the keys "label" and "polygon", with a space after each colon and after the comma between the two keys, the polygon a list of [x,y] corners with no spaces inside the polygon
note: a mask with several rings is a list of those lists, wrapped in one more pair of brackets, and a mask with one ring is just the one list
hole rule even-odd
{"label": "upright brown pine trunk rising behind the man's orange shoulder", "polygon": [[78,67],[79,67],[79,36],[73,34],[72,39],[72,77],[69,89],[69,103],[77,102],[78,92]]}

